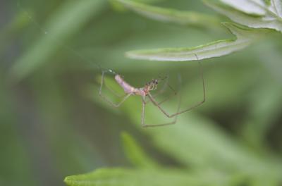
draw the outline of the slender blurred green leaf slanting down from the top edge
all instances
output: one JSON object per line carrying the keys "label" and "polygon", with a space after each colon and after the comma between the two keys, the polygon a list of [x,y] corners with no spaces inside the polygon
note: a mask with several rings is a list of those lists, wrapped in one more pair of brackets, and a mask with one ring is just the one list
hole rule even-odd
{"label": "slender blurred green leaf slanting down from the top edge", "polygon": [[219,27],[221,27],[218,18],[204,13],[197,13],[193,11],[177,11],[171,8],[161,8],[129,0],[114,1],[117,1],[123,4],[123,6],[126,8],[129,8],[130,10],[153,20],[159,20],[167,23],[177,23],[180,25],[197,25],[213,29],[216,28],[217,30]]}

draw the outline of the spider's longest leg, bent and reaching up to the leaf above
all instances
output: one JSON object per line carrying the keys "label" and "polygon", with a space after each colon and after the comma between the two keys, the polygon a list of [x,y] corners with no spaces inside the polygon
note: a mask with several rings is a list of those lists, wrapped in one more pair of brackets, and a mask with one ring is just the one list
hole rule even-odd
{"label": "spider's longest leg, bent and reaching up to the leaf above", "polygon": [[190,111],[192,109],[195,109],[197,106],[200,106],[202,104],[204,104],[204,101],[206,101],[206,90],[205,90],[205,85],[204,85],[204,76],[203,76],[203,70],[202,70],[202,64],[199,62],[200,64],[200,73],[201,73],[201,77],[202,77],[202,87],[203,87],[203,99],[202,101],[200,101],[199,103],[193,105],[193,106],[190,106],[188,107],[188,109],[184,109],[183,111],[177,111],[176,113],[173,113],[173,114],[169,114],[168,112],[166,112],[160,105],[159,103],[156,101],[156,99],[154,99],[154,97],[152,97],[152,94],[150,94],[148,92],[148,97],[149,99],[152,101],[152,103],[157,106],[159,108],[159,110],[164,113],[168,118],[173,118],[177,115],[179,115],[180,113],[185,113],[187,111]]}

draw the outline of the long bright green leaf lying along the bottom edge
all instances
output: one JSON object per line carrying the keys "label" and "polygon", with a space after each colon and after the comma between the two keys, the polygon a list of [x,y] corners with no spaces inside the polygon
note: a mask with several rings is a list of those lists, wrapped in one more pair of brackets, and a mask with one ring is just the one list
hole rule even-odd
{"label": "long bright green leaf lying along the bottom edge", "polygon": [[240,175],[223,173],[189,171],[175,169],[130,169],[130,168],[101,168],[92,173],[71,175],[65,178],[69,186],[187,186],[187,185],[240,185],[245,180]]}

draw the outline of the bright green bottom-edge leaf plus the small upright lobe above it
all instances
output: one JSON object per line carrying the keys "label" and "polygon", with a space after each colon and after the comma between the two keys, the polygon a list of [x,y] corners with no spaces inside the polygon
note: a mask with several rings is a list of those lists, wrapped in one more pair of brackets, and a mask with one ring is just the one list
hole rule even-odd
{"label": "bright green bottom-edge leaf plus the small upright lobe above it", "polygon": [[[141,153],[140,147],[132,137],[123,133],[123,146],[133,164],[142,165],[152,163],[147,155]],[[130,145],[128,145],[130,144]],[[136,151],[136,149],[138,149]],[[102,168],[85,175],[68,176],[65,179],[67,185],[239,185],[244,184],[242,175],[226,175],[212,171],[191,172],[186,169],[172,169],[164,167],[145,166],[142,168]]]}

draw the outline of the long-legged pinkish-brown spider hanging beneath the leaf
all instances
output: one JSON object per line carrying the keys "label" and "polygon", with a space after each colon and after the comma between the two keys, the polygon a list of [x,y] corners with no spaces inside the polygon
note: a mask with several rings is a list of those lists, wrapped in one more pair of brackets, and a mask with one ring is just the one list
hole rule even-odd
{"label": "long-legged pinkish-brown spider hanging beneath the leaf", "polygon": [[[200,106],[201,104],[204,103],[204,101],[206,100],[206,93],[205,93],[205,85],[204,85],[204,76],[203,76],[203,70],[202,70],[202,64],[200,63],[199,61],[199,64],[200,64],[200,73],[201,73],[201,77],[202,77],[202,87],[203,87],[203,99],[202,101],[198,102],[197,104],[194,104],[193,106],[190,106],[186,109],[183,109],[180,111],[180,102],[181,102],[181,97],[179,98],[179,101],[178,101],[178,107],[177,107],[177,111],[176,113],[168,113],[167,111],[165,111],[165,109],[163,109],[161,107],[161,104],[163,104],[165,101],[167,101],[168,99],[164,99],[163,101],[157,101],[155,99],[156,95],[157,94],[161,94],[161,92],[164,91],[165,87],[168,86],[171,88],[170,85],[168,85],[167,83],[167,80],[168,78],[165,77],[165,78],[161,78],[161,79],[153,79],[152,81],[150,82],[147,82],[146,85],[144,87],[140,87],[140,88],[135,88],[131,85],[128,84],[128,82],[125,82],[123,80],[123,77],[117,73],[115,73],[113,70],[103,70],[102,71],[102,80],[101,80],[101,85],[100,85],[100,88],[99,88],[99,95],[106,101],[108,102],[109,104],[111,104],[111,106],[114,106],[114,107],[118,107],[118,106],[121,106],[121,104],[123,104],[123,102],[128,99],[128,97],[132,96],[132,95],[137,95],[137,96],[140,96],[142,97],[142,115],[141,115],[141,121],[142,121],[142,127],[157,127],[157,126],[164,126],[164,125],[172,125],[172,124],[175,124],[176,121],[177,121],[177,118],[178,118],[178,115],[181,114],[181,113],[185,113],[187,111],[190,111],[192,109],[195,109],[197,106]],[[125,97],[123,97],[123,99],[118,103],[118,104],[114,104],[111,100],[109,100],[108,98],[106,98],[103,94],[102,94],[102,87],[104,85],[104,75],[106,72],[109,72],[109,73],[113,73],[115,75],[115,80],[116,82],[118,83],[118,85],[120,85],[124,92],[125,92]],[[166,83],[164,85],[163,88],[160,89],[160,91],[155,94],[154,96],[151,94],[151,91],[153,90],[156,90],[157,89],[157,85],[159,83],[160,80],[164,80],[166,79]],[[107,86],[106,86],[107,87]],[[116,94],[111,88],[107,87],[111,92],[113,92],[114,94]],[[171,88],[172,89],[172,88]],[[173,89],[172,89],[173,90]],[[174,92],[174,91],[173,91]],[[176,94],[176,92],[174,92],[174,94]],[[116,96],[118,97],[121,97],[119,95],[116,94]],[[146,100],[146,97],[148,97],[149,99]],[[168,118],[174,118],[172,122],[170,123],[162,123],[162,124],[158,124],[158,125],[147,125],[145,124],[145,106],[148,102],[152,102],[152,104],[154,104],[154,106],[157,106],[157,108],[162,112],[164,113],[165,116],[167,116]]]}

